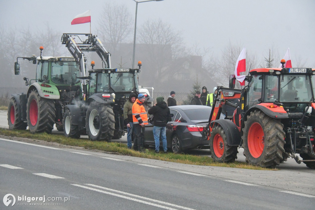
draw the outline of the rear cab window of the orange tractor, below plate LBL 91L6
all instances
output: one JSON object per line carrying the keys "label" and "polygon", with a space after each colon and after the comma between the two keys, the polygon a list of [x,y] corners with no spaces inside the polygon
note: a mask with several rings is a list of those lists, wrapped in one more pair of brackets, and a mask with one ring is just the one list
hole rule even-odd
{"label": "rear cab window of the orange tractor, below plate LBL 91L6", "polygon": [[312,91],[308,75],[280,76],[279,102],[309,102],[310,100],[312,100]]}

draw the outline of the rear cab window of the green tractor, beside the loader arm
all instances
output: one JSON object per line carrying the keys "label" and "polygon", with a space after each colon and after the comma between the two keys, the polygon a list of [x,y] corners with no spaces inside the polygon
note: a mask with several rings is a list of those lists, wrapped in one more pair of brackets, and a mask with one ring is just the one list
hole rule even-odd
{"label": "rear cab window of the green tractor, beside the loader arm", "polygon": [[[51,63],[51,81],[61,85],[71,85],[72,74],[80,77],[79,66],[76,61],[56,61]],[[76,82],[78,82],[77,79]]]}

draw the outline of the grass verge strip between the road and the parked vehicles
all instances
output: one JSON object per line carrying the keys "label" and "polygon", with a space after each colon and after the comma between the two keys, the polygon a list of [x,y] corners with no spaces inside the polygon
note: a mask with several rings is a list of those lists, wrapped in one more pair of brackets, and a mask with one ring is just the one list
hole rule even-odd
{"label": "grass verge strip between the road and the parked vehicles", "polygon": [[200,165],[200,166],[220,166],[220,167],[231,167],[231,168],[243,168],[243,169],[254,169],[254,170],[277,170],[270,168],[262,168],[258,166],[252,166],[243,162],[234,162],[234,163],[217,163],[213,162],[213,159],[208,156],[198,156],[198,155],[189,155],[189,154],[156,154],[154,149],[146,149],[145,153],[140,153],[127,148],[127,145],[120,142],[105,142],[105,141],[90,141],[89,139],[74,139],[66,138],[62,135],[47,134],[47,133],[36,133],[31,134],[28,130],[8,130],[0,128],[0,135],[13,136],[13,137],[22,137],[22,138],[31,138],[37,140],[44,140],[47,142],[56,142],[69,146],[78,146],[85,149],[97,149],[100,151],[111,152],[120,155],[129,155],[133,157],[142,157],[155,160],[164,160],[176,163]]}

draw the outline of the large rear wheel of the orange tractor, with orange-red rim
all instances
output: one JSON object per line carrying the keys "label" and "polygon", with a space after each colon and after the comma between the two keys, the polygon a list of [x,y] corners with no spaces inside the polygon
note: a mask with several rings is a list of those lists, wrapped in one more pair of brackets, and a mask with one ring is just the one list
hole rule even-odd
{"label": "large rear wheel of the orange tractor, with orange-red rim", "polygon": [[283,124],[260,110],[251,112],[244,122],[243,154],[246,162],[255,166],[274,168],[283,159]]}

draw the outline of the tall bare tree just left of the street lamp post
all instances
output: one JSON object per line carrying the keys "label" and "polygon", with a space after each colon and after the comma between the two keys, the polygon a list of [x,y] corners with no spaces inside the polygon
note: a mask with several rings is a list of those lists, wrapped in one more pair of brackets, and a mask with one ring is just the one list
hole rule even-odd
{"label": "tall bare tree just left of the street lamp post", "polygon": [[107,43],[106,50],[116,52],[117,45],[127,41],[132,32],[134,18],[125,5],[105,3],[97,27],[100,39]]}

